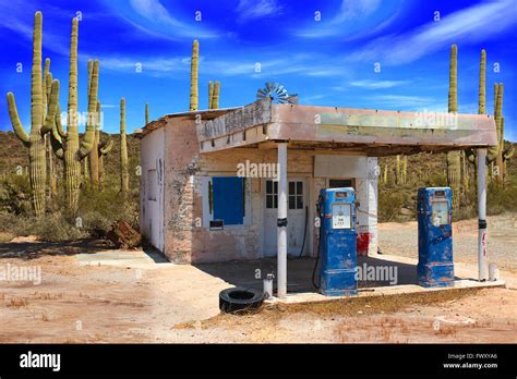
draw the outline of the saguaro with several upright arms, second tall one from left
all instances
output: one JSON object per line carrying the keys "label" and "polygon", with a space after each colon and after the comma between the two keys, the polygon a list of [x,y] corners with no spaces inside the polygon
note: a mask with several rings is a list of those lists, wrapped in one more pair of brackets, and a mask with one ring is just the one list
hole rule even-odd
{"label": "saguaro with several upright arms, second tall one from left", "polygon": [[[96,119],[95,111],[97,107],[98,93],[98,61],[93,63],[92,77],[88,85],[88,119],[83,140],[80,144],[77,125],[77,34],[79,20],[72,20],[72,35],[70,44],[70,73],[69,73],[69,99],[68,99],[68,122],[67,132],[62,130],[59,115],[59,81],[52,83],[53,90],[58,93],[56,99],[51,99],[49,114],[47,119],[55,120],[52,125],[52,148],[56,156],[64,163],[64,190],[67,198],[67,208],[75,212],[77,210],[80,187],[81,187],[81,162],[85,159],[95,139]],[[53,105],[53,107],[52,107]],[[56,113],[57,112],[57,113]]]}

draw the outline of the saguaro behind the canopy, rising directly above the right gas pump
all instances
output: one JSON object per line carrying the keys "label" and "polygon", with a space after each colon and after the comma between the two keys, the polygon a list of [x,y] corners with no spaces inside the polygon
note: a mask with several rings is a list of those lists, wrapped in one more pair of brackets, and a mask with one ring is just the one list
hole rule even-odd
{"label": "saguaro behind the canopy, rising directly above the right gas pump", "polygon": [[[458,112],[458,47],[453,45],[450,47],[450,65],[449,65],[449,88],[448,88],[448,111],[449,113]],[[459,151],[447,152],[447,182],[453,192],[453,207],[459,207],[460,196],[460,176],[461,176],[461,161]]]}

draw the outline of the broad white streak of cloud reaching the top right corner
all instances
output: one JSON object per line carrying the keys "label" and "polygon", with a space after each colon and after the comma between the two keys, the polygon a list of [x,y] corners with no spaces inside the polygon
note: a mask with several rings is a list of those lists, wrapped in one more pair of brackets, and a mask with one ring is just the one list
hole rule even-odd
{"label": "broad white streak of cloud reaching the top right corner", "polygon": [[404,64],[418,60],[453,42],[472,44],[486,40],[517,23],[515,3],[498,0],[442,14],[441,20],[428,23],[405,34],[380,37],[352,53],[351,60],[378,60],[385,64]]}

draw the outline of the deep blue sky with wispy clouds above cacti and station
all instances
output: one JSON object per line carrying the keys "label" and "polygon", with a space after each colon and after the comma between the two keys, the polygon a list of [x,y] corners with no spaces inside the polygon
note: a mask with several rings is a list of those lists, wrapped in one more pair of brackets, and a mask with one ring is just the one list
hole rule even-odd
{"label": "deep blue sky with wispy clouds above cacti and station", "polygon": [[278,82],[306,105],[446,111],[448,53],[457,44],[459,112],[478,112],[484,48],[488,112],[493,112],[493,84],[503,82],[506,139],[517,140],[513,0],[0,0],[0,130],[11,130],[9,90],[29,129],[37,10],[44,14],[44,58],[51,59],[52,74],[61,81],[63,109],[71,19],[80,12],[80,110],[86,111],[87,59],[97,58],[106,132],[119,129],[121,97],[129,131],[142,127],[145,102],[153,120],[188,110],[194,38],[200,40],[201,109],[207,105],[208,81],[220,81],[221,108],[250,103],[265,82]]}

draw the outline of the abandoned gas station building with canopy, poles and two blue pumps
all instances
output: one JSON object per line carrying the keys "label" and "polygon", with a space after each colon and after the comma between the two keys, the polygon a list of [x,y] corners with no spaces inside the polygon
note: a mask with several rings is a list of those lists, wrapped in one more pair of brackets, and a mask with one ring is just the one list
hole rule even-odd
{"label": "abandoned gas station building with canopy, poles and two blue pumps", "polygon": [[[482,162],[496,144],[493,117],[450,115],[269,99],[165,115],[141,134],[141,232],[177,264],[276,259],[279,298],[291,281],[288,262],[305,266],[310,280],[316,257],[324,295],[356,294],[354,272],[378,257],[377,157],[473,148]],[[275,164],[277,172],[242,175],[243,163]],[[479,248],[472,254],[477,279],[485,281],[485,170],[479,167]],[[417,278],[418,269],[420,285],[454,285],[449,190],[421,192],[423,255],[409,270]]]}

